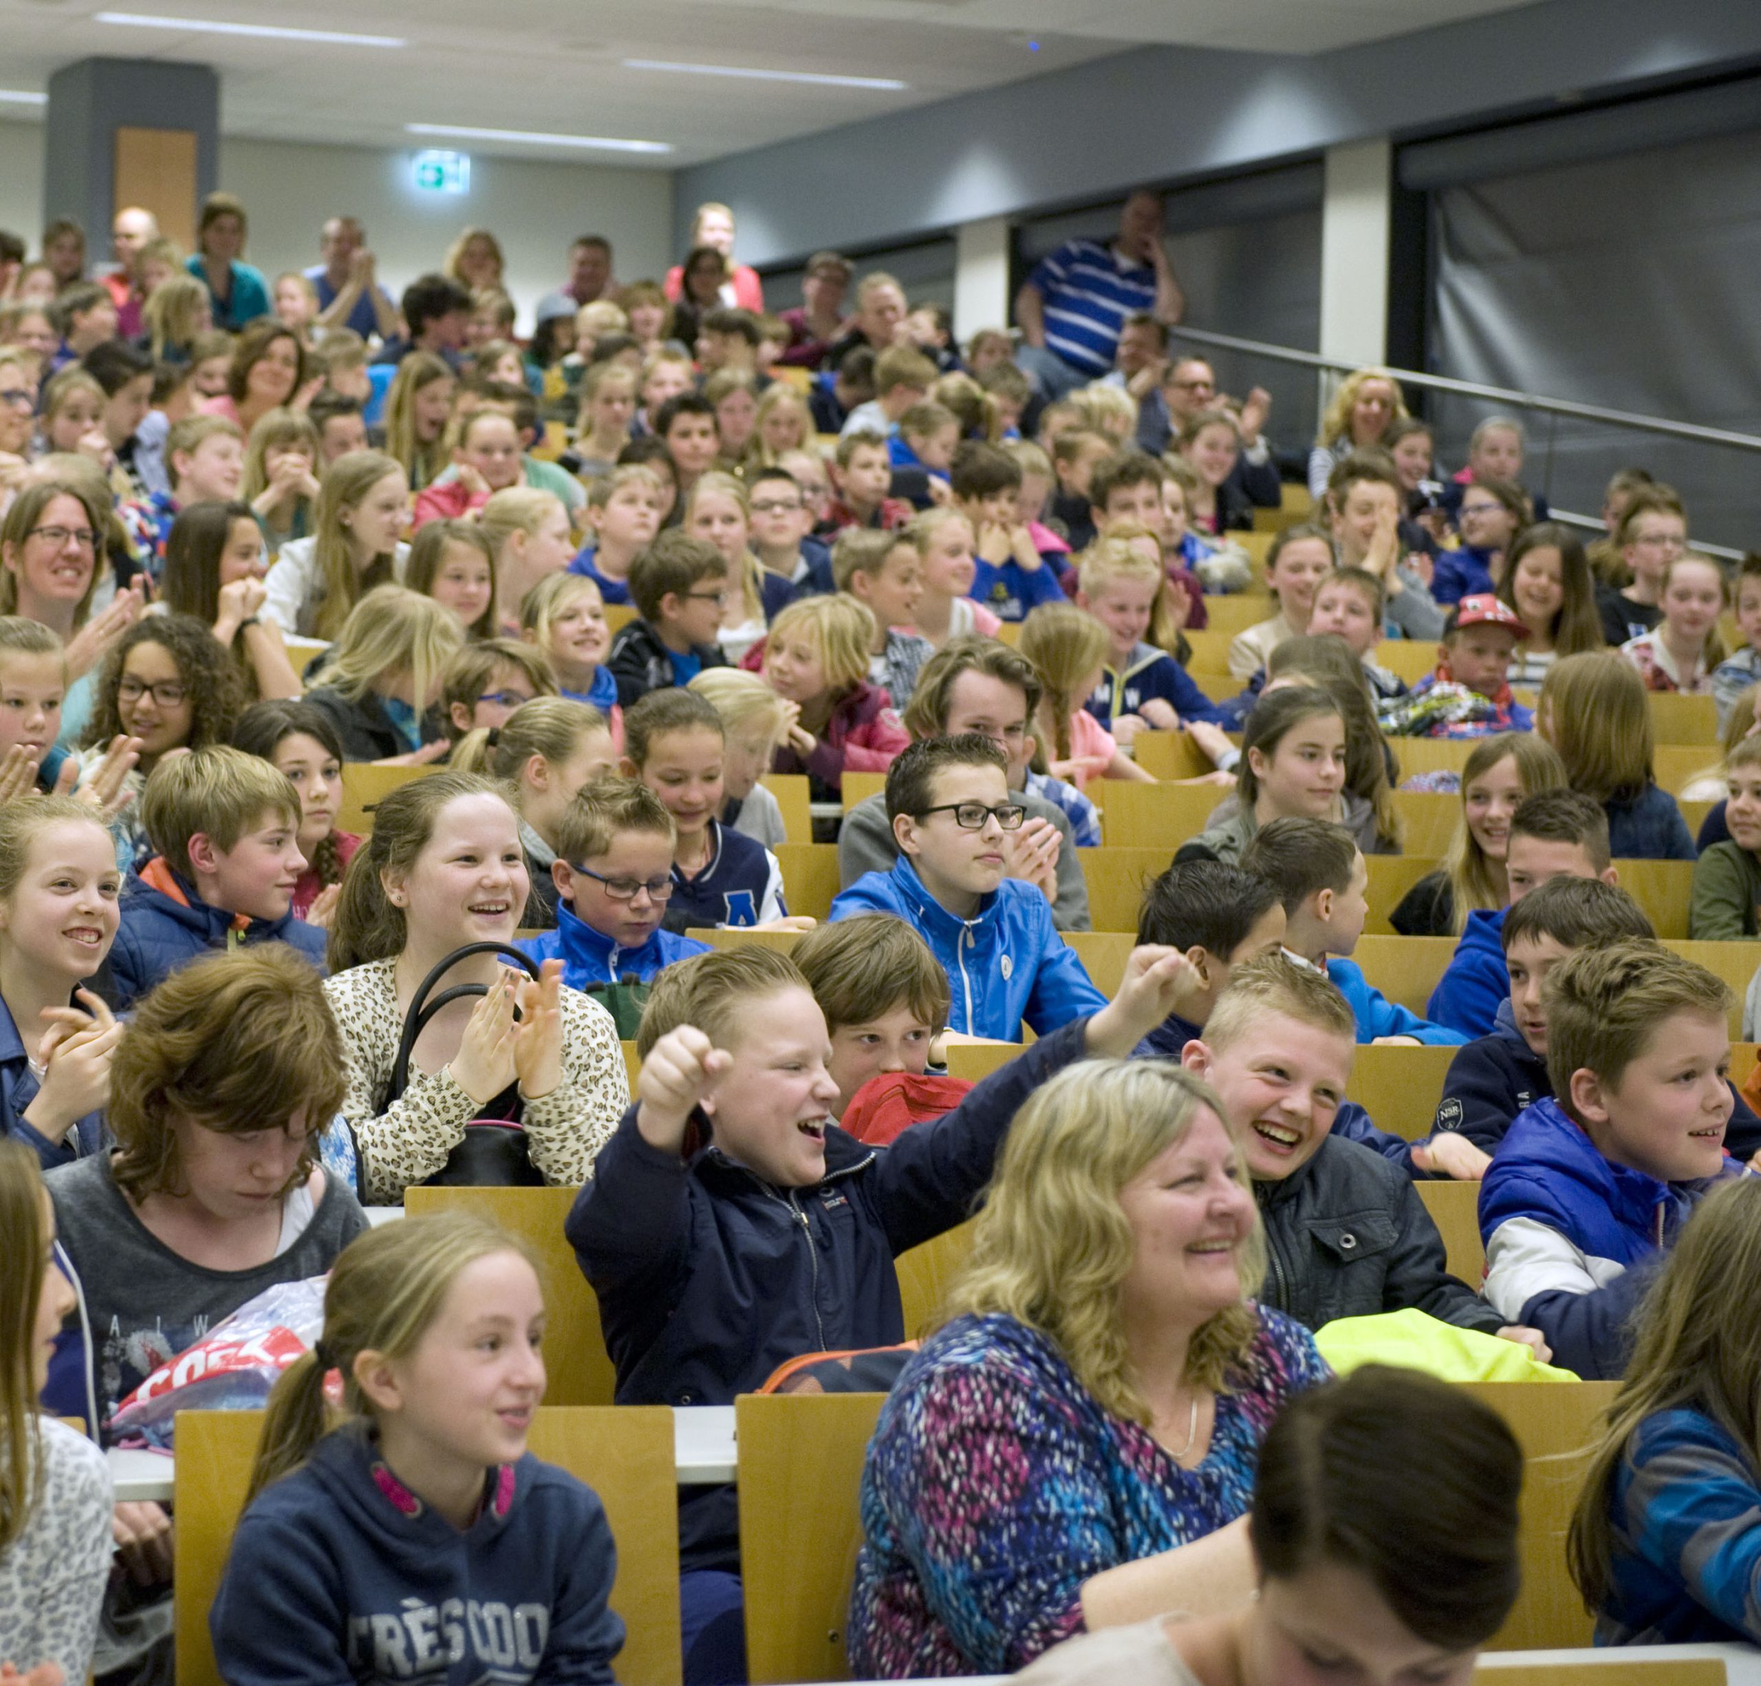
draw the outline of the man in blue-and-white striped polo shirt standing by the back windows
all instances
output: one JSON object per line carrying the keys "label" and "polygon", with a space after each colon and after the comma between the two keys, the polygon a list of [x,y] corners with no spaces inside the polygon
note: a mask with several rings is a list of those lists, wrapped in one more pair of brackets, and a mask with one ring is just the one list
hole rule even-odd
{"label": "man in blue-and-white striped polo shirt standing by the back windows", "polygon": [[1016,363],[1048,400],[1062,398],[1113,368],[1127,317],[1178,322],[1185,303],[1162,250],[1162,201],[1141,188],[1125,201],[1111,245],[1069,239],[1027,278],[1014,299]]}

